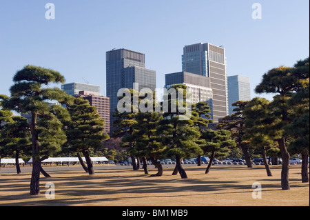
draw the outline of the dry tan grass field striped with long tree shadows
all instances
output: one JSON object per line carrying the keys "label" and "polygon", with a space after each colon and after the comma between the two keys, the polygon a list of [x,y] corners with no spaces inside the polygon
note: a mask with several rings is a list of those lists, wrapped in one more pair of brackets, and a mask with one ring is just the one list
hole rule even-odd
{"label": "dry tan grass field striped with long tree shadows", "polygon": [[[188,179],[149,177],[143,170],[50,172],[41,176],[41,195],[30,196],[30,173],[1,174],[0,206],[309,206],[309,183],[301,183],[300,166],[291,166],[291,190],[281,190],[281,166],[205,166],[185,168]],[[156,173],[150,169],[150,174]],[[55,199],[46,199],[45,183],[55,186]],[[262,186],[262,199],[253,199],[252,183]]]}

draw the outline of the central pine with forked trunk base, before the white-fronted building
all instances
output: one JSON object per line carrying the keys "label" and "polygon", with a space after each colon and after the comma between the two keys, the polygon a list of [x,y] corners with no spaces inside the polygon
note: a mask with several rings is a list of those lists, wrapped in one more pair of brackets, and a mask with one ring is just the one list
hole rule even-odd
{"label": "central pine with forked trunk base, before the white-fronted building", "polygon": [[[187,87],[185,85],[176,85],[172,86],[172,88],[181,89],[181,92],[176,95],[176,99],[169,93],[165,97],[165,100],[169,103],[169,109],[167,112],[163,112],[165,119],[160,121],[157,135],[161,136],[161,143],[167,146],[165,150],[167,157],[176,159],[176,168],[173,174],[179,172],[180,177],[186,179],[187,174],[181,165],[182,159],[202,154],[203,151],[197,143],[200,132],[194,126],[194,120],[192,117],[185,116],[188,113],[185,111],[185,108],[187,108]],[[176,106],[175,110],[172,108],[173,104]]]}

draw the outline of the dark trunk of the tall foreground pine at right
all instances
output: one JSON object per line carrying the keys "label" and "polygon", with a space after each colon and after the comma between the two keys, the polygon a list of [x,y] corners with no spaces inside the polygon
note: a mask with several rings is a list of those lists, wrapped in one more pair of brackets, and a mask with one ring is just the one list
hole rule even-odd
{"label": "dark trunk of the tall foreground pine at right", "polygon": [[285,138],[278,139],[278,144],[282,157],[282,171],[281,171],[281,188],[282,190],[289,190],[289,152],[285,146]]}

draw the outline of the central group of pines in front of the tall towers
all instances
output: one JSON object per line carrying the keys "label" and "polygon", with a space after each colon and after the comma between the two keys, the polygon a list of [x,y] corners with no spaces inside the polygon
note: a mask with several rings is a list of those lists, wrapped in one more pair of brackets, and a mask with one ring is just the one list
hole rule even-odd
{"label": "central group of pines in front of the tall towers", "polygon": [[[227,130],[207,130],[208,123],[211,122],[209,113],[211,112],[206,102],[197,103],[192,106],[192,116],[190,119],[182,120],[185,112],[180,110],[179,106],[185,106],[186,101],[186,86],[176,85],[172,88],[183,89],[183,94],[166,94],[169,106],[172,102],[176,102],[176,110],[172,112],[169,109],[167,112],[149,112],[134,111],[134,93],[135,90],[130,90],[132,95],[131,110],[128,112],[116,112],[114,117],[114,126],[117,128],[114,132],[114,137],[123,137],[121,145],[130,152],[134,170],[138,169],[135,157],[143,161],[143,169],[145,174],[147,170],[147,159],[158,169],[156,174],[152,176],[161,176],[163,168],[159,159],[172,158],[176,160],[176,168],[173,174],[180,174],[181,178],[187,178],[187,174],[183,169],[181,161],[183,158],[197,157],[211,152],[213,158],[222,153],[229,152],[229,148],[236,146],[231,139],[231,133]],[[154,95],[154,94],[153,94]],[[181,95],[183,97],[178,97]],[[145,96],[140,97],[140,101],[145,99]],[[181,99],[182,98],[182,99]],[[123,99],[120,97],[119,99]],[[156,100],[150,99],[152,101]],[[184,103],[178,105],[178,101]],[[154,103],[152,106],[156,106]],[[154,107],[155,108],[155,107]],[[136,112],[136,113],[135,113]],[[211,164],[210,164],[211,165]],[[208,166],[206,173],[209,172]]]}

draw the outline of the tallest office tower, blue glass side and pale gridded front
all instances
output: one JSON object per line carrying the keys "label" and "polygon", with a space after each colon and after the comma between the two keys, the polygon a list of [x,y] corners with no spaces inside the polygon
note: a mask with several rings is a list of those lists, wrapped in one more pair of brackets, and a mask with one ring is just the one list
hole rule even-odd
{"label": "tallest office tower, blue glass side and pale gridded front", "polygon": [[209,77],[209,87],[213,92],[213,119],[228,114],[227,74],[225,49],[211,43],[196,43],[183,48],[182,69]]}

